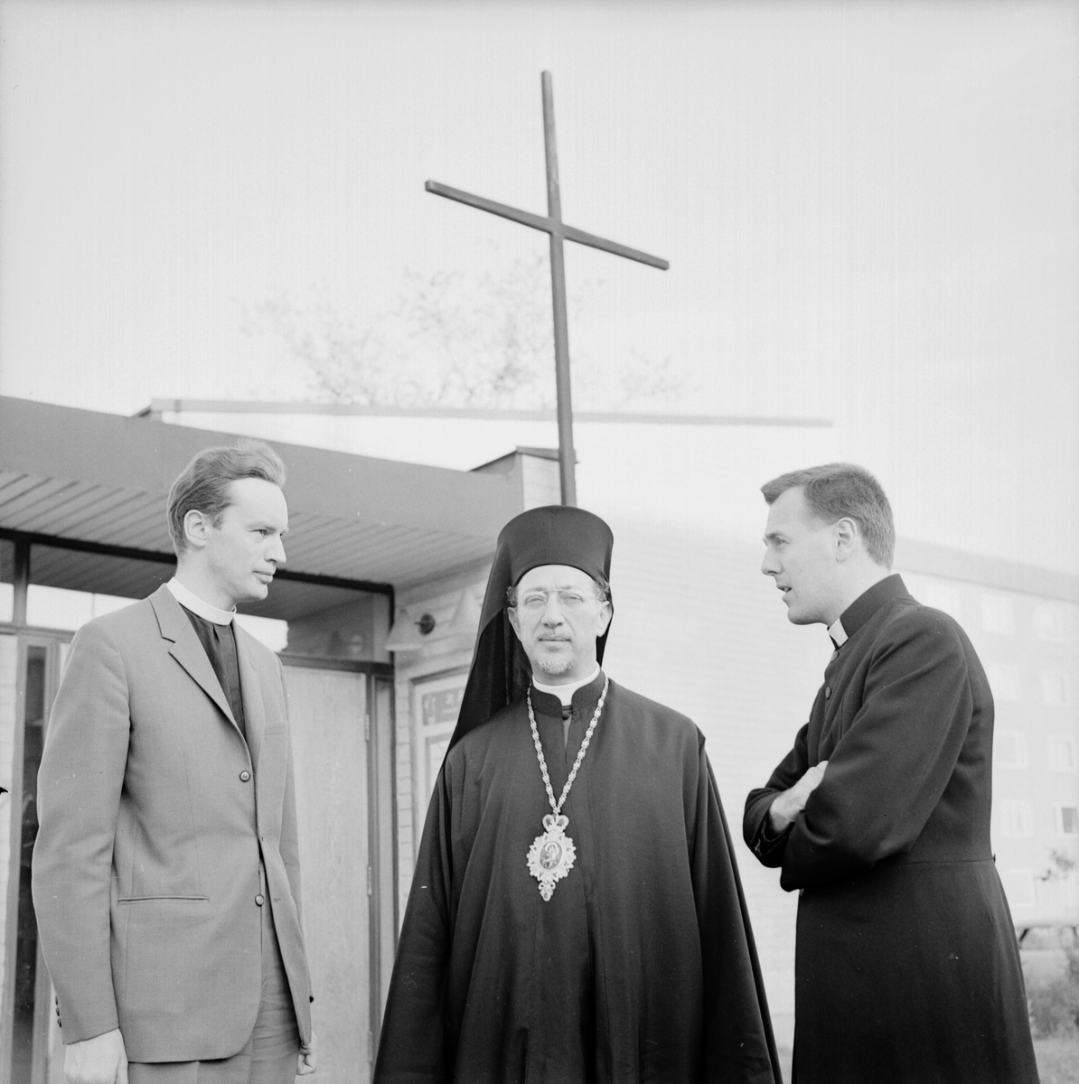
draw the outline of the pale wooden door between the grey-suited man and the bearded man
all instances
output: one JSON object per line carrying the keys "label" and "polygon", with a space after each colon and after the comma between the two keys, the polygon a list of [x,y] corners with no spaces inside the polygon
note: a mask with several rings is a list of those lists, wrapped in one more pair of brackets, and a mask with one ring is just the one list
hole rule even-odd
{"label": "pale wooden door between the grey-suited man and the bearded man", "polygon": [[393,966],[393,683],[285,663],[322,1084],[367,1084]]}

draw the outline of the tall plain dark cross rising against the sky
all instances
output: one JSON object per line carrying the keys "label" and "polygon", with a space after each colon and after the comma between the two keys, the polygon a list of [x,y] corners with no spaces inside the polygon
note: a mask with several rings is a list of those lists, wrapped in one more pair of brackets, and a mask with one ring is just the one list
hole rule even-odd
{"label": "tall plain dark cross rising against the sky", "polygon": [[574,411],[569,396],[566,263],[562,242],[576,241],[580,245],[602,248],[605,253],[625,256],[627,259],[659,268],[660,271],[666,271],[670,264],[666,260],[659,259],[658,256],[650,256],[647,253],[638,251],[638,249],[629,248],[627,245],[619,245],[616,241],[606,241],[593,233],[586,233],[576,227],[566,225],[562,221],[562,193],[558,188],[558,153],[554,142],[554,96],[551,92],[551,73],[543,72],[540,76],[540,82],[543,88],[543,143],[547,150],[545,217],[532,215],[527,210],[517,210],[516,207],[508,207],[505,204],[486,199],[484,196],[474,196],[470,192],[439,184],[438,181],[427,181],[424,188],[436,196],[457,199],[458,203],[489,211],[491,215],[500,215],[502,218],[531,227],[534,230],[542,230],[551,235],[551,297],[554,308],[554,386],[558,416],[558,474],[562,480],[562,503],[575,505],[577,503],[577,482],[574,466],[577,462],[577,455],[574,451]]}

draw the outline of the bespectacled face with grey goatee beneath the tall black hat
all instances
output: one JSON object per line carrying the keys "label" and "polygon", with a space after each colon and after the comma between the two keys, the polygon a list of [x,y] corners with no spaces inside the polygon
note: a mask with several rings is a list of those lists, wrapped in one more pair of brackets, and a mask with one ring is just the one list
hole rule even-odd
{"label": "bespectacled face with grey goatee beneath the tall black hat", "polygon": [[568,685],[595,669],[595,641],[611,623],[611,603],[600,602],[588,572],[569,565],[530,569],[509,614],[539,681]]}

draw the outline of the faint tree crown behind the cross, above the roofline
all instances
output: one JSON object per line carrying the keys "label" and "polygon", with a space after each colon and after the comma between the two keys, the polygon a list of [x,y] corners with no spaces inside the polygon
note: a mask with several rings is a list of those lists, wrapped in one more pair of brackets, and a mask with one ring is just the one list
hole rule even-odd
{"label": "faint tree crown behind the cross, above the roofline", "polygon": [[[575,297],[573,308],[580,307],[581,297]],[[406,271],[397,301],[362,324],[344,317],[324,287],[306,307],[287,299],[265,302],[256,324],[256,333],[275,338],[308,370],[320,399],[489,409],[554,404],[545,256],[518,258],[497,275],[471,281],[460,272]],[[669,357],[656,364],[635,350],[618,367],[614,389],[601,375],[575,351],[579,403],[617,409],[673,395],[681,385]]]}

